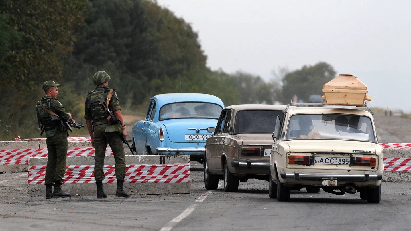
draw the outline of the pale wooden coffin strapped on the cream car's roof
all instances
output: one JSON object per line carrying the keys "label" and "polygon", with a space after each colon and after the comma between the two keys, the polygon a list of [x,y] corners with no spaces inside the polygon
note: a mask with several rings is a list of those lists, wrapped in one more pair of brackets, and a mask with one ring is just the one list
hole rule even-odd
{"label": "pale wooden coffin strapped on the cream car's roof", "polygon": [[330,105],[363,106],[365,100],[371,100],[367,85],[351,74],[340,74],[324,84],[323,92],[322,98]]}

